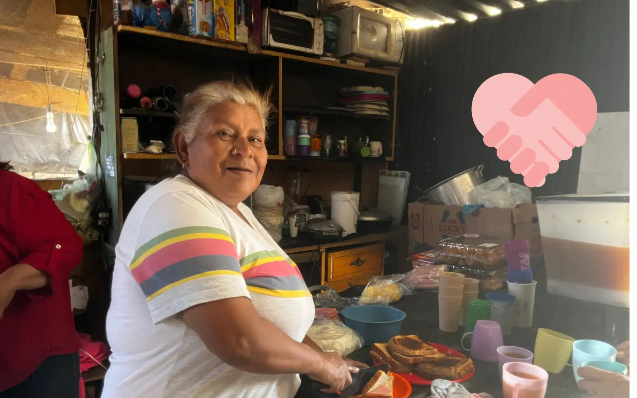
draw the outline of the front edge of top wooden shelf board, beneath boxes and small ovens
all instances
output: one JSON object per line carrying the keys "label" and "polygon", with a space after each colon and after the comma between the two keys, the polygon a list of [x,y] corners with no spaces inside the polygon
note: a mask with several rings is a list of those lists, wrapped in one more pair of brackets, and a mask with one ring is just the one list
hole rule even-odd
{"label": "front edge of top wooden shelf board, beneath boxes and small ovens", "polygon": [[[134,27],[127,25],[120,25],[117,27],[117,32],[119,33],[128,33],[128,34],[145,34],[147,36],[154,36],[156,38],[167,38],[173,40],[183,41],[185,43],[193,43],[197,45],[211,46],[217,48],[225,48],[227,50],[234,50],[238,52],[248,52],[248,48],[243,43],[238,43],[236,41],[226,41],[226,40],[218,40],[218,39],[206,39],[206,38],[197,38],[194,36],[185,36],[183,34],[176,33],[168,33],[161,32],[155,29],[145,29],[143,27]],[[278,52],[273,50],[261,50],[261,55],[266,55],[269,57],[280,57],[285,59],[293,59],[299,60],[301,62],[310,62],[311,64],[320,64],[325,66],[333,66],[335,68],[344,68],[351,69],[354,71],[362,71],[368,73],[377,73],[378,75],[387,75],[387,76],[397,76],[398,72],[395,70],[385,70],[385,69],[377,69],[377,68],[365,68],[364,66],[354,66],[348,64],[339,64],[338,62],[332,62],[329,60],[315,59],[310,57],[304,57],[303,55],[289,54],[284,52]]]}

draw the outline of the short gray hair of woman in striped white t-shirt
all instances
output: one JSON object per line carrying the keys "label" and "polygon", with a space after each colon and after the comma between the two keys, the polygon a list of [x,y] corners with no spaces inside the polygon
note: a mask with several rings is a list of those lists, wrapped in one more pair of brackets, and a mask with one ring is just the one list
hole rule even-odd
{"label": "short gray hair of woman in striped white t-shirt", "polygon": [[[252,85],[234,83],[219,80],[197,87],[194,92],[183,99],[182,111],[175,132],[181,132],[186,142],[190,143],[195,138],[197,127],[213,106],[232,101],[240,105],[254,106],[261,115],[263,129],[266,129],[267,120],[271,110],[271,89],[261,94]],[[267,132],[266,132],[267,136]]]}

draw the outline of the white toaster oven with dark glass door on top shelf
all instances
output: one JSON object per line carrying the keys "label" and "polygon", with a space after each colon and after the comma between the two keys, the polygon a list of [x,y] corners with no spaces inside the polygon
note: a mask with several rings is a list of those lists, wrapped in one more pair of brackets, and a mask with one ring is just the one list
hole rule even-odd
{"label": "white toaster oven with dark glass door on top shelf", "polygon": [[323,21],[293,11],[264,8],[261,44],[313,54],[323,53]]}

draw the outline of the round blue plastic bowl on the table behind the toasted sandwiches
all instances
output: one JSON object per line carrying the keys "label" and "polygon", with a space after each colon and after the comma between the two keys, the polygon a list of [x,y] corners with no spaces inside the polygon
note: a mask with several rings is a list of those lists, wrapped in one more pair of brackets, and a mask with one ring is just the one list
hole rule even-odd
{"label": "round blue plastic bowl on the table behind the toasted sandwiches", "polygon": [[373,343],[387,343],[400,334],[405,313],[387,306],[354,306],[341,311],[345,325],[361,334],[366,346]]}

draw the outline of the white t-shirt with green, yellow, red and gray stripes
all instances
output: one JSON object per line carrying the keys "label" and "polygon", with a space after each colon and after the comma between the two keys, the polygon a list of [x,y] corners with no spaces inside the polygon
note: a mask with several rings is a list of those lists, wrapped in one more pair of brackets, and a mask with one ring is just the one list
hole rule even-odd
{"label": "white t-shirt with green, yellow, red and gray stripes", "polygon": [[252,212],[246,224],[177,176],[141,196],[115,253],[103,398],[293,397],[297,374],[253,374],[208,351],[176,315],[196,304],[249,297],[259,315],[302,341],[314,318],[296,264]]}

